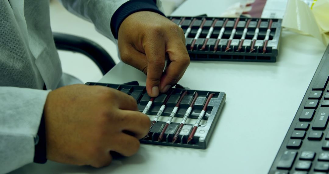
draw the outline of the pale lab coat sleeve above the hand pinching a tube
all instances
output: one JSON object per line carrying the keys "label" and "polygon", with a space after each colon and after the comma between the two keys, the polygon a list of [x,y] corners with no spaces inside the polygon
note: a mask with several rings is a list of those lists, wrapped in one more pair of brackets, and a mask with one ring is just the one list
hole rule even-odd
{"label": "pale lab coat sleeve above the hand pinching a tube", "polygon": [[[139,1],[141,3],[143,2],[142,0]],[[147,1],[151,1],[151,0],[146,0],[145,3]],[[113,33],[113,30],[115,29],[112,28],[111,31],[111,19],[114,13],[116,12],[116,10],[118,10],[118,8],[124,3],[128,2],[128,0],[60,0],[60,2],[69,12],[92,22],[95,25],[96,30],[98,32],[111,39],[114,43],[117,43],[116,40],[117,37]],[[160,0],[156,1],[156,6],[158,8],[161,8]],[[140,10],[136,8],[140,8]],[[130,9],[133,11],[134,10],[143,11],[142,10],[143,8],[145,7],[133,6],[133,7],[129,7],[128,10]],[[159,10],[159,9],[157,10],[152,10],[152,9],[148,10],[148,9],[150,8],[147,8],[146,11],[157,12],[157,10]],[[162,14],[160,10],[158,11],[158,13]]]}

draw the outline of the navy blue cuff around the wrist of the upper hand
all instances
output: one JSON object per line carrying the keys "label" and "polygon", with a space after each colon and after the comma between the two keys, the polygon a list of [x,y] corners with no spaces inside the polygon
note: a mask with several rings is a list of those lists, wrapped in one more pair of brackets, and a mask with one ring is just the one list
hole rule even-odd
{"label": "navy blue cuff around the wrist of the upper hand", "polygon": [[150,11],[165,16],[157,7],[155,0],[130,0],[122,4],[113,14],[111,19],[111,31],[115,39],[118,39],[118,31],[123,20],[130,14],[140,11]]}

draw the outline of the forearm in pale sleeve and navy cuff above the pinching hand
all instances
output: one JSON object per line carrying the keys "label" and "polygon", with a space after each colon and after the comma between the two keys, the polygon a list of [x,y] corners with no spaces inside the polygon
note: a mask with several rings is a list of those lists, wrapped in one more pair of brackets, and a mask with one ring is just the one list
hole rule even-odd
{"label": "forearm in pale sleeve and navy cuff above the pinching hand", "polygon": [[138,11],[153,11],[162,14],[157,7],[161,3],[156,3],[156,0],[60,1],[69,12],[94,23],[98,32],[114,42],[117,39],[118,27],[128,15]]}

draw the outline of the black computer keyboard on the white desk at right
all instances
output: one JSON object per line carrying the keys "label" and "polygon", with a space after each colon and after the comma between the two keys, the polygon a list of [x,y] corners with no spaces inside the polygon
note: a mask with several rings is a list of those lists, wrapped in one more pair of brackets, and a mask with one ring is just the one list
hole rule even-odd
{"label": "black computer keyboard on the white desk at right", "polygon": [[329,171],[329,45],[270,168],[270,174]]}

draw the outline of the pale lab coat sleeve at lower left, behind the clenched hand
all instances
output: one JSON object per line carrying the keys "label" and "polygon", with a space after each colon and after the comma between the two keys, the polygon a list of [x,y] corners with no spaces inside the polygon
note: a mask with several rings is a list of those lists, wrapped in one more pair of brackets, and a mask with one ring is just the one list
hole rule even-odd
{"label": "pale lab coat sleeve at lower left, behind the clenched hand", "polygon": [[49,92],[0,86],[0,173],[33,162],[34,137]]}

